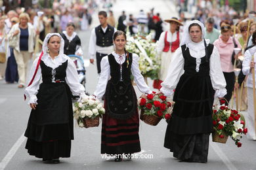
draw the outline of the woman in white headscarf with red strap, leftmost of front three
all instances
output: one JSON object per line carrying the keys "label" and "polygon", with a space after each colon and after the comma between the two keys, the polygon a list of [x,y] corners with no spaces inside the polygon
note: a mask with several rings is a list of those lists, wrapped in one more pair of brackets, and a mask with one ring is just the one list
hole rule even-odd
{"label": "woman in white headscarf with red strap, leftmost of front three", "polygon": [[24,92],[32,107],[25,132],[26,149],[30,155],[51,163],[70,157],[74,139],[71,96],[85,96],[75,64],[63,50],[62,37],[58,33],[47,34],[43,53],[33,62],[30,84]]}

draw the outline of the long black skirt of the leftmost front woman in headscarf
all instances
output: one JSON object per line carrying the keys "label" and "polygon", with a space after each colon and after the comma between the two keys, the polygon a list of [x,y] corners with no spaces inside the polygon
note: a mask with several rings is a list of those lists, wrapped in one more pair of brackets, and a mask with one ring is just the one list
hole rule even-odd
{"label": "long black skirt of the leftmost front woman in headscarf", "polygon": [[65,83],[42,83],[37,103],[25,132],[28,153],[45,160],[70,157],[74,139],[70,88]]}

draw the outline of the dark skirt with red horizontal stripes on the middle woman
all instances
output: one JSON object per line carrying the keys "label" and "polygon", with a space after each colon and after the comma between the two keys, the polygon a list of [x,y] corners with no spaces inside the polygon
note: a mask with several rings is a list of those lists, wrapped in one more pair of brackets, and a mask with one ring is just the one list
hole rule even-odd
{"label": "dark skirt with red horizontal stripes on the middle woman", "polygon": [[[104,105],[106,106],[106,100]],[[139,113],[127,120],[119,120],[108,115],[102,118],[101,154],[133,154],[140,152]]]}

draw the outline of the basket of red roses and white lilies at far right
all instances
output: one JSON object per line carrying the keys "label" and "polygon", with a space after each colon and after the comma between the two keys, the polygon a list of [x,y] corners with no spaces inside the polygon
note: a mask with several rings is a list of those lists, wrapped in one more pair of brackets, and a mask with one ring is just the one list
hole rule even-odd
{"label": "basket of red roses and white lilies at far right", "polygon": [[242,134],[247,133],[244,116],[237,110],[225,106],[224,103],[225,101],[221,100],[220,107],[213,106],[213,142],[226,143],[230,136],[236,146],[241,147]]}

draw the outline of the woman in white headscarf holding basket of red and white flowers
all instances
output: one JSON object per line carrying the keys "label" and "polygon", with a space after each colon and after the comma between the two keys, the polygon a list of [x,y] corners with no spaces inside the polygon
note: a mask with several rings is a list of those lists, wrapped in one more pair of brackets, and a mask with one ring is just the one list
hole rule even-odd
{"label": "woman in white headscarf holding basket of red and white flowers", "polygon": [[182,161],[207,162],[214,95],[226,94],[219,52],[203,39],[204,30],[198,20],[188,22],[161,83],[161,92],[169,97],[174,93],[175,101],[164,146]]}

